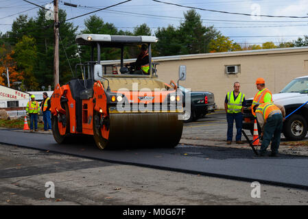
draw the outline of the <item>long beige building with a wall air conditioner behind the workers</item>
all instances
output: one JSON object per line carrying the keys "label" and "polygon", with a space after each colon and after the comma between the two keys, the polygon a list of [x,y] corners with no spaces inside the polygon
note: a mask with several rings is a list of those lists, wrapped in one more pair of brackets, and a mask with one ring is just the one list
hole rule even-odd
{"label": "long beige building with a wall air conditioner behind the workers", "polygon": [[249,99],[257,92],[258,77],[263,77],[265,86],[276,93],[294,77],[308,75],[308,47],[153,57],[153,62],[159,63],[158,77],[167,83],[178,80],[178,66],[187,66],[186,81],[180,81],[180,85],[213,92],[217,107],[222,109],[235,81],[241,83],[240,91]]}

